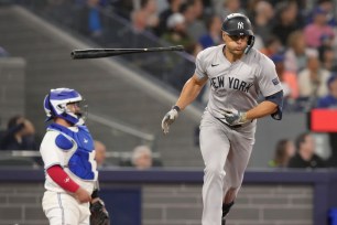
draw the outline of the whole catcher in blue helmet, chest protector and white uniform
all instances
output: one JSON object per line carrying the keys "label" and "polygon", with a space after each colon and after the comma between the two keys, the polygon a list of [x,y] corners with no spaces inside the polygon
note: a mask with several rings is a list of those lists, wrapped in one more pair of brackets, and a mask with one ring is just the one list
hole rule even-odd
{"label": "whole catcher in blue helmet, chest protector and white uniform", "polygon": [[[94,141],[84,125],[81,101],[80,94],[69,88],[52,89],[44,98],[47,121],[53,122],[40,147],[46,190],[42,207],[51,225],[108,224],[108,213],[97,195]],[[90,223],[90,215],[97,217],[98,211],[106,223]]]}

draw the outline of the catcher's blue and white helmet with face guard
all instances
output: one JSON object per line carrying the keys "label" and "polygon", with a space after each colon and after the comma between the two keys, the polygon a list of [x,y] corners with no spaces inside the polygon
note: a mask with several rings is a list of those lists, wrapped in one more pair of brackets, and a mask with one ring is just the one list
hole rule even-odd
{"label": "catcher's blue and white helmet with face guard", "polygon": [[79,103],[83,97],[75,89],[56,88],[51,89],[43,101],[44,111],[47,116],[46,121],[54,117],[61,117],[73,125],[83,125],[84,115],[81,113],[74,114],[67,108],[67,104]]}

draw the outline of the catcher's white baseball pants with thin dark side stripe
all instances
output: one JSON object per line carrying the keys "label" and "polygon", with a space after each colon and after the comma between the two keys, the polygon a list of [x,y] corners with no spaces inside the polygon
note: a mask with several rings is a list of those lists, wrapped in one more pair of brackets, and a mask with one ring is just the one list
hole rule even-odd
{"label": "catcher's white baseball pants with thin dark side stripe", "polygon": [[42,208],[51,225],[89,225],[89,203],[78,203],[67,193],[45,191]]}

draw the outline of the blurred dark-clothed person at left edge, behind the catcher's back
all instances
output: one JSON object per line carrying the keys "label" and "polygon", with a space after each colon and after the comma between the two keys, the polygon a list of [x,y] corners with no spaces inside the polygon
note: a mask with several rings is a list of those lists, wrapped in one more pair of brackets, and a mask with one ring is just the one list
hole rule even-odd
{"label": "blurred dark-clothed person at left edge, behind the catcher's back", "polygon": [[37,150],[35,128],[23,116],[14,116],[8,121],[7,130],[0,140],[1,150]]}

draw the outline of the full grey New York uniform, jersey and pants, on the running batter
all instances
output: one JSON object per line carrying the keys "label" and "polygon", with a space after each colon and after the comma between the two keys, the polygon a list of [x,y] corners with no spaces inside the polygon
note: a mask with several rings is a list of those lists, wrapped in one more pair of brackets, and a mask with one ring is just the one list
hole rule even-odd
{"label": "full grey New York uniform, jersey and pants, on the running batter", "polygon": [[[260,93],[267,97],[282,90],[273,62],[251,49],[230,63],[225,45],[208,47],[196,58],[195,74],[208,77],[209,100],[200,122],[200,151],[205,162],[203,225],[220,225],[222,199],[239,191],[254,143],[256,120],[241,127],[225,125],[221,109],[247,111],[258,105]],[[219,120],[221,118],[221,120]]]}

